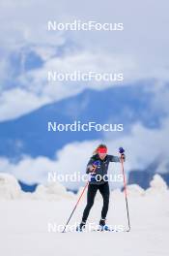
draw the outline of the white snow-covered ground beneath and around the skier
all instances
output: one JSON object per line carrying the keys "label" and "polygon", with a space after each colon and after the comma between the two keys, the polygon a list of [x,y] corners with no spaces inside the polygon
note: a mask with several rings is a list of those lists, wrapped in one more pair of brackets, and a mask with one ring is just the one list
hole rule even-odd
{"label": "white snow-covered ground beneath and around the skier", "polygon": [[[79,193],[73,195],[59,183],[40,185],[35,193],[20,190],[14,176],[0,174],[0,255],[118,255],[168,256],[169,191],[160,176],[144,191],[127,187],[130,233],[60,233],[49,227],[65,224]],[[86,204],[86,192],[70,224],[76,225]],[[127,227],[125,196],[111,192],[107,224]],[[98,224],[101,197],[91,210],[89,221]]]}

